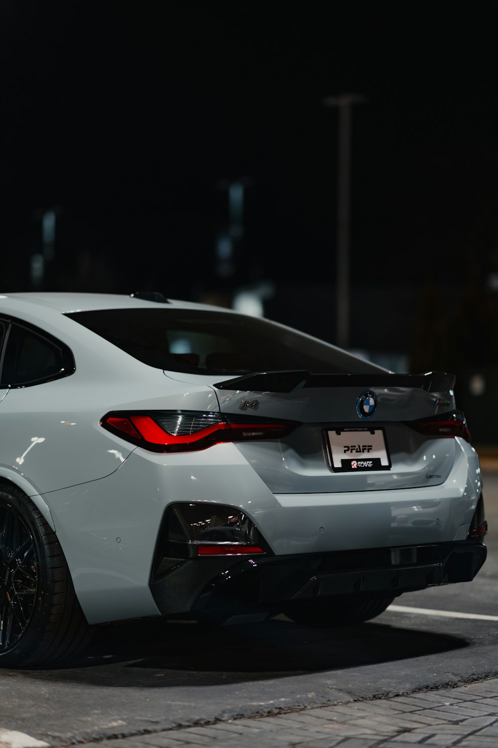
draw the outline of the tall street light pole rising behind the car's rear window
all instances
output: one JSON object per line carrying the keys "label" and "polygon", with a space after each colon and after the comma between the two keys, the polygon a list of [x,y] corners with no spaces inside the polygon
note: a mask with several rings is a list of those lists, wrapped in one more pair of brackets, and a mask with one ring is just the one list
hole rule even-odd
{"label": "tall street light pole rising behind the car's rear window", "polygon": [[364,102],[364,96],[341,93],[326,96],[323,104],[339,109],[337,152],[337,248],[336,317],[337,345],[349,346],[349,223],[351,215],[351,105]]}

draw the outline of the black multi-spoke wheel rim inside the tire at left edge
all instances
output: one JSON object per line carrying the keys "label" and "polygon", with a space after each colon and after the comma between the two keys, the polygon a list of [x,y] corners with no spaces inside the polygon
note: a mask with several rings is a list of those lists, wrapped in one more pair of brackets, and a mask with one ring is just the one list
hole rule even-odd
{"label": "black multi-spoke wheel rim inside the tire at left edge", "polygon": [[0,654],[28,628],[38,589],[37,553],[22,516],[0,505]]}

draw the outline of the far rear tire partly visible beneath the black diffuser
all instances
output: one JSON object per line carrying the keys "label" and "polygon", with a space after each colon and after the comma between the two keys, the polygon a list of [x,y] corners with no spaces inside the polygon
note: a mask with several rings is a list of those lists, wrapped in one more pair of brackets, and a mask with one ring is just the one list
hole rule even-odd
{"label": "far rear tire partly visible beneath the black diffuser", "polygon": [[[332,610],[313,610],[300,608],[298,610],[286,610],[285,615],[292,621],[303,626],[314,628],[334,628],[336,626],[347,626],[355,623],[363,623],[380,616],[389,607],[394,598],[379,598],[377,600],[361,600],[352,598],[351,601],[334,601],[337,607]],[[342,606],[342,607],[340,607]]]}

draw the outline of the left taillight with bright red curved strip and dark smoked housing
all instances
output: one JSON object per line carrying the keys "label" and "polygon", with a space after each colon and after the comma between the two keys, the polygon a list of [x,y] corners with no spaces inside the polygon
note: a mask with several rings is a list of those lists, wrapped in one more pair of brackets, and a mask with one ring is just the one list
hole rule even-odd
{"label": "left taillight with bright red curved strip and dark smoked housing", "polygon": [[151,452],[194,452],[226,441],[279,439],[299,423],[198,411],[111,412],[104,429]]}

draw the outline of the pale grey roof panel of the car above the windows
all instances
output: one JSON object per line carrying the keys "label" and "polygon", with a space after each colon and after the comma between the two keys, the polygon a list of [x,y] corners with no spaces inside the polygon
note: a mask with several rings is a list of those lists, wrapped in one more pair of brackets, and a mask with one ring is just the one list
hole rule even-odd
{"label": "pale grey roof panel of the car above the windows", "polygon": [[[167,309],[171,307],[181,309],[205,309],[229,312],[225,307],[215,307],[209,304],[198,304],[195,301],[178,301],[168,299],[168,303],[157,301],[146,301],[143,298],[131,297],[119,293],[68,293],[68,292],[26,292],[5,293],[0,295],[1,301],[11,300],[17,302],[19,307],[26,311],[34,310],[35,307],[46,307],[60,313],[89,312],[101,309]],[[8,306],[8,304],[7,304]],[[10,307],[11,313],[15,314],[14,307]]]}

